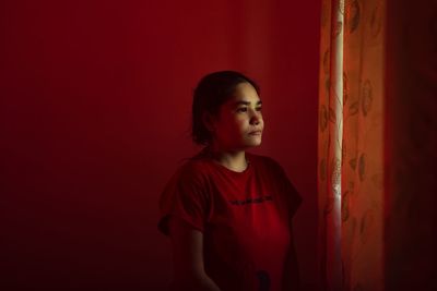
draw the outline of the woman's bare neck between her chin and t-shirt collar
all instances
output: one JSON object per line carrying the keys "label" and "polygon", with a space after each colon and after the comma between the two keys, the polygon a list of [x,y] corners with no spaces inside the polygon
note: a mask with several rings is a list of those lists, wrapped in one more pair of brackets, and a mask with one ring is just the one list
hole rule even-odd
{"label": "woman's bare neck between her chin and t-shirt collar", "polygon": [[208,151],[215,162],[229,170],[243,172],[248,166],[245,150],[225,150],[216,146],[211,146],[208,148]]}

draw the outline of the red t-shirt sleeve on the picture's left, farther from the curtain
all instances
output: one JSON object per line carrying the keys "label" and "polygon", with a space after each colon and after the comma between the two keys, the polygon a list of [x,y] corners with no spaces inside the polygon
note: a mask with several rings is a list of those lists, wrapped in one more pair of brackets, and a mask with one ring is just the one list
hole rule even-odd
{"label": "red t-shirt sleeve on the picture's left, farther from the curtain", "polygon": [[168,235],[168,219],[176,217],[203,232],[209,209],[206,184],[201,172],[182,167],[161,194],[158,230]]}

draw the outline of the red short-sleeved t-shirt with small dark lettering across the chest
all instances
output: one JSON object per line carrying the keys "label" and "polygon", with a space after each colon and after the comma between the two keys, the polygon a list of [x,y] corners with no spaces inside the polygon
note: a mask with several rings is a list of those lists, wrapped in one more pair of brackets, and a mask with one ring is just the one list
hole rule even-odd
{"label": "red short-sleeved t-shirt with small dark lettering across the chest", "polygon": [[243,172],[202,155],[180,167],[161,196],[160,230],[175,216],[201,231],[205,272],[222,291],[282,291],[300,196],[274,160],[246,157]]}

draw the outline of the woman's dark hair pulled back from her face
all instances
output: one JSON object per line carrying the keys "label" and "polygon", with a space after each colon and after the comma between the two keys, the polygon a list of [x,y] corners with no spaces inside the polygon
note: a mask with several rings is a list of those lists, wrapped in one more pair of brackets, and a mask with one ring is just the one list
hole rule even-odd
{"label": "woman's dark hair pulled back from her face", "polygon": [[199,145],[209,145],[211,132],[203,123],[202,116],[218,113],[220,107],[235,93],[240,83],[249,83],[259,94],[259,86],[251,78],[235,71],[220,71],[203,76],[194,89],[192,98],[192,141]]}

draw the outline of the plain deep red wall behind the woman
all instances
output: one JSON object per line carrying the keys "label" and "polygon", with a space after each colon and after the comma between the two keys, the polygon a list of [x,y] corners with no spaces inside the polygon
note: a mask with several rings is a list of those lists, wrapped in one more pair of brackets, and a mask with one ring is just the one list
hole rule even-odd
{"label": "plain deep red wall behind the woman", "polygon": [[[2,1],[0,289],[164,290],[161,190],[205,73],[259,81],[267,133],[305,203],[316,270],[319,1]],[[8,287],[7,289],[4,287]]]}

